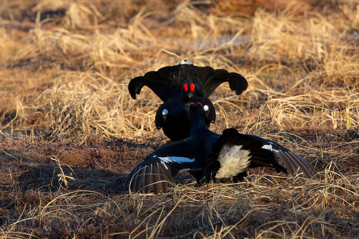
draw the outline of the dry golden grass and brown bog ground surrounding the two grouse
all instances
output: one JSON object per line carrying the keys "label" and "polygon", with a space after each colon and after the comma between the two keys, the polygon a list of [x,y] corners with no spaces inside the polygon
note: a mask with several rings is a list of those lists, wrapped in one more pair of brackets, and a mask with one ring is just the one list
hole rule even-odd
{"label": "dry golden grass and brown bog ground surrounding the two grouse", "polygon": [[[0,8],[0,238],[359,238],[355,1],[6,1]],[[127,83],[189,59],[244,75],[211,130],[278,140],[321,180],[250,171],[122,192],[167,141]],[[51,156],[53,155],[53,156]],[[55,160],[53,160],[55,159]]]}

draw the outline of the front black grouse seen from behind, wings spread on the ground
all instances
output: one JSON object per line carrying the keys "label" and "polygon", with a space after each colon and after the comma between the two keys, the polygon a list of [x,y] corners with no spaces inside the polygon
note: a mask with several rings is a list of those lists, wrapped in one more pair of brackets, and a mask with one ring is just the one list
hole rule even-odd
{"label": "front black grouse seen from behind, wings spread on the ground", "polygon": [[[316,178],[317,172],[304,158],[289,149],[255,135],[225,129],[222,135],[205,125],[203,107],[190,104],[192,128],[187,140],[176,142],[148,154],[129,174],[125,189],[131,192],[167,192],[168,182],[180,170],[188,170],[204,185],[211,179],[220,182],[242,180],[247,169],[271,167],[285,174]],[[280,159],[286,168],[278,163]]]}

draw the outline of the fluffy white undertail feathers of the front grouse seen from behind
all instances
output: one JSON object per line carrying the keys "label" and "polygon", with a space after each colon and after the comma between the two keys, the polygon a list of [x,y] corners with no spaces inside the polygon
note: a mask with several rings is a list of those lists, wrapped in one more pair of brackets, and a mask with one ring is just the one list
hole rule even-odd
{"label": "fluffy white undertail feathers of the front grouse seen from behind", "polygon": [[232,180],[234,176],[243,171],[246,171],[251,163],[248,156],[249,150],[242,149],[242,145],[234,145],[232,147],[223,147],[218,156],[218,161],[221,164],[216,178],[229,178]]}

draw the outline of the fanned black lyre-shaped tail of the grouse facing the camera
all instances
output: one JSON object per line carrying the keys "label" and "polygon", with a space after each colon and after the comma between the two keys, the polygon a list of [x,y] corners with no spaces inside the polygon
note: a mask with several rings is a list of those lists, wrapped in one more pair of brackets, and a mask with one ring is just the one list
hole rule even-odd
{"label": "fanned black lyre-shaped tail of the grouse facing the camera", "polygon": [[142,87],[148,86],[163,102],[181,92],[183,84],[194,83],[197,87],[196,96],[209,97],[223,82],[228,82],[236,95],[242,94],[248,87],[246,78],[235,72],[224,69],[214,70],[212,67],[194,66],[183,60],[176,66],[162,67],[157,71],[150,71],[144,76],[133,78],[129,83],[131,97],[136,99]]}

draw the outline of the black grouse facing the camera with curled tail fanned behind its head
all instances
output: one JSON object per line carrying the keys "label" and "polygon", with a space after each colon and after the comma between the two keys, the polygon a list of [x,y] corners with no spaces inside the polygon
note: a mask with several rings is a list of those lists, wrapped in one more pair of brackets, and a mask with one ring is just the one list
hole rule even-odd
{"label": "black grouse facing the camera with curled tail fanned behind its head", "polygon": [[157,129],[172,141],[188,138],[191,121],[188,115],[190,102],[204,105],[206,125],[216,120],[215,108],[208,97],[223,82],[237,95],[248,87],[247,80],[235,72],[212,67],[198,67],[187,60],[176,66],[166,66],[158,71],[150,71],[144,76],[133,78],[129,83],[129,92],[133,99],[140,94],[143,86],[148,86],[164,103],[160,105],[155,116]]}

